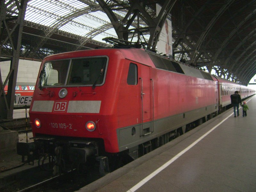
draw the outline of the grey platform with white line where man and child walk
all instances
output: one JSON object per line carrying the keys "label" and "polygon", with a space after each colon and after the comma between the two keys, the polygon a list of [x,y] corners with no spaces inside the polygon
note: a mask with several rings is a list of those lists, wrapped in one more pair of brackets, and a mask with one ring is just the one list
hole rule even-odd
{"label": "grey platform with white line where man and child walk", "polygon": [[256,96],[78,192],[256,191]]}

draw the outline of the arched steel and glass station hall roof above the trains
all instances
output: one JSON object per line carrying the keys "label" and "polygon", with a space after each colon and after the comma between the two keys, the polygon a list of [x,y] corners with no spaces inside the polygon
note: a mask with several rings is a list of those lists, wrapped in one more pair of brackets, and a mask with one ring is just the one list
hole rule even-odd
{"label": "arched steel and glass station hall roof above the trains", "polygon": [[[162,6],[159,15],[156,4]],[[255,0],[6,0],[0,5],[0,60],[111,47],[102,40],[106,37],[139,41],[157,51],[170,14],[174,59],[244,85],[256,74]]]}

